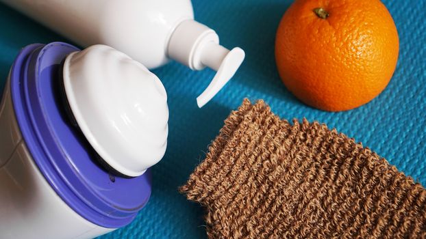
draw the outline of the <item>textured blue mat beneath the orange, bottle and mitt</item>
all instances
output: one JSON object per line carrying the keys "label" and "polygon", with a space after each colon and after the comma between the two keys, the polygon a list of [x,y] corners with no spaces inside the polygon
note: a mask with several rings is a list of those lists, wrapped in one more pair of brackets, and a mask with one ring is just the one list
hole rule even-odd
{"label": "textured blue mat beneath the orange, bottle and mitt", "polygon": [[[177,63],[154,70],[168,92],[170,137],[153,167],[153,194],[137,219],[101,238],[205,238],[203,210],[177,193],[205,156],[223,120],[242,99],[263,98],[286,119],[318,120],[337,128],[426,185],[426,1],[384,1],[397,25],[400,55],[385,91],[358,109],[327,113],[305,106],[279,80],[273,55],[275,31],[292,1],[192,1],[195,18],[216,29],[225,46],[240,46],[245,63],[223,91],[198,109],[195,98],[214,72],[191,72]],[[33,42],[64,40],[0,5],[1,88],[19,49]]]}

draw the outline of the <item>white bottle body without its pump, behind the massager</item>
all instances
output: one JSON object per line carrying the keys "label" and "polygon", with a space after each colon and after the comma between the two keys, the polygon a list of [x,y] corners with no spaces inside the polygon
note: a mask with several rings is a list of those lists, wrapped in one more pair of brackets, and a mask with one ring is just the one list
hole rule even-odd
{"label": "white bottle body without its pump, behind the massager", "polygon": [[147,68],[168,62],[175,27],[194,19],[190,0],[0,1],[82,46],[112,46]]}

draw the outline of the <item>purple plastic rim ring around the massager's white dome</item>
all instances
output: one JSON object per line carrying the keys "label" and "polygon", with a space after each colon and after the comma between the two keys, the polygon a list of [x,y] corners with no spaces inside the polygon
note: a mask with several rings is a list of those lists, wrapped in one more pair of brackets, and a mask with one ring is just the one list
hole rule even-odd
{"label": "purple plastic rim ring around the massager's white dome", "polygon": [[114,177],[103,169],[60,99],[60,64],[75,51],[62,42],[23,48],[10,75],[12,102],[29,152],[52,188],[88,221],[118,228],[130,223],[151,194],[151,172]]}

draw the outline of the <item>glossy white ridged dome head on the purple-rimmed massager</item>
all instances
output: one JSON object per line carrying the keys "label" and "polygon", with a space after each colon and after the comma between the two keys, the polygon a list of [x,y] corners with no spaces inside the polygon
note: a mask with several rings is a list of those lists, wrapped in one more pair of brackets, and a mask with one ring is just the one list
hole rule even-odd
{"label": "glossy white ridged dome head on the purple-rimmed massager", "polygon": [[64,88],[79,128],[110,167],[135,177],[164,156],[166,90],[138,61],[90,46],[66,58]]}

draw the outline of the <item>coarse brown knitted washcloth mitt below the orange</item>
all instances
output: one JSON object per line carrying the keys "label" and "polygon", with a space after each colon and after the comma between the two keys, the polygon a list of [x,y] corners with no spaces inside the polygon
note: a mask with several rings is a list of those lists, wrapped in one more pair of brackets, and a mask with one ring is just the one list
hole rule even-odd
{"label": "coarse brown knitted washcloth mitt below the orange", "polygon": [[426,191],[324,124],[245,100],[181,187],[209,238],[426,238]]}

